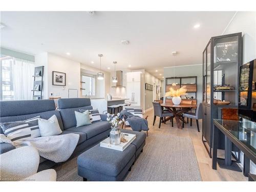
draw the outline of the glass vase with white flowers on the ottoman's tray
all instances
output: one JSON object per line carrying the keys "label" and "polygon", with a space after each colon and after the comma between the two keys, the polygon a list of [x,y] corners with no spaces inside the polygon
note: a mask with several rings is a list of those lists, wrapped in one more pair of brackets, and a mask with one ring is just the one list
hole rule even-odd
{"label": "glass vase with white flowers on the ottoman's tray", "polygon": [[117,115],[108,113],[106,116],[106,120],[111,124],[110,144],[119,145],[121,143],[120,126],[123,121],[119,118],[119,113]]}

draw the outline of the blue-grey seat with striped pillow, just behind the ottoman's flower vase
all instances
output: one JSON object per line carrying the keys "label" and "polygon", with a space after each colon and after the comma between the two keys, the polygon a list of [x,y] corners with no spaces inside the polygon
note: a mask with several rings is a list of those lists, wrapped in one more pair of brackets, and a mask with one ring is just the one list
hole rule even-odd
{"label": "blue-grey seat with striped pillow, just behind the ottoman's flower vase", "polygon": [[128,121],[133,131],[148,131],[147,120],[122,110],[119,115],[120,119]]}

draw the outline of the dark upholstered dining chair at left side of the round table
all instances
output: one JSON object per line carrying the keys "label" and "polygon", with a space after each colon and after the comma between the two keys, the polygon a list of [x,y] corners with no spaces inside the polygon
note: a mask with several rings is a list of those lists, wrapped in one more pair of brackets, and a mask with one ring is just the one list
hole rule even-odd
{"label": "dark upholstered dining chair at left side of the round table", "polygon": [[[154,122],[153,125],[155,125],[156,117],[158,116],[160,118],[158,128],[161,127],[161,122],[165,123],[165,117],[173,117],[173,113],[170,113],[169,111],[162,110],[162,106],[159,102],[152,102],[154,107]],[[170,119],[172,121],[173,125],[173,118]]]}

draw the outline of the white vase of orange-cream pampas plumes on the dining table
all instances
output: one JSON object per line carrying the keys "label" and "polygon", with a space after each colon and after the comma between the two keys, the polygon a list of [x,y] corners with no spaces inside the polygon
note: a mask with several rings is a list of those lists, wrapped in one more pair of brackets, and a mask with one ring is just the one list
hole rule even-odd
{"label": "white vase of orange-cream pampas plumes on the dining table", "polygon": [[178,105],[181,102],[182,95],[186,95],[187,93],[186,86],[182,86],[181,88],[178,88],[176,83],[172,84],[172,87],[170,87],[169,91],[165,93],[165,97],[173,97],[172,101],[174,104]]}

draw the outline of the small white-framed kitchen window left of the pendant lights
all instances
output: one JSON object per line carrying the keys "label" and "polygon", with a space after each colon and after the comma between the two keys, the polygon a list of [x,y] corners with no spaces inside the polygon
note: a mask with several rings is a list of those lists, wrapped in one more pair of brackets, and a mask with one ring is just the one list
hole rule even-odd
{"label": "small white-framed kitchen window left of the pendant lights", "polygon": [[95,77],[82,75],[82,96],[95,95]]}

